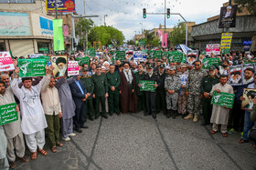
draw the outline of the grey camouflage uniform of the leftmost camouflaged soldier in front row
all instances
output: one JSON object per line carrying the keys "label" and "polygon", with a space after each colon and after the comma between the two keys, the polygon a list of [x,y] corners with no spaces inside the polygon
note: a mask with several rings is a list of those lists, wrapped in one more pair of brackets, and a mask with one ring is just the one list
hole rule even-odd
{"label": "grey camouflage uniform of the leftmost camouflaged soldier in front row", "polygon": [[[180,87],[180,78],[178,75],[166,75],[165,90],[166,90],[166,107],[168,110],[177,110],[177,97]],[[173,95],[169,94],[167,90],[175,90]]]}

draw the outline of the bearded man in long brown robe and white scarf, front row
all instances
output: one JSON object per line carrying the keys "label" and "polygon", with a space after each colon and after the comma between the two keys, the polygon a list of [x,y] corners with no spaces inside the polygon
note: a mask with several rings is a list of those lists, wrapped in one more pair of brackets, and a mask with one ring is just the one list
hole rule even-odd
{"label": "bearded man in long brown robe and white scarf, front row", "polygon": [[135,76],[130,69],[130,64],[124,62],[123,71],[120,73],[119,93],[121,98],[121,112],[137,112],[137,96],[135,95]]}

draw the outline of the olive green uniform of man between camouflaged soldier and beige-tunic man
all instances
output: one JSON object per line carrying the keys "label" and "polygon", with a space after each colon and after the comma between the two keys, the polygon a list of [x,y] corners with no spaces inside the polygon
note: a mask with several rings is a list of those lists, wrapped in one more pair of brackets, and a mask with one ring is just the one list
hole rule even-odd
{"label": "olive green uniform of man between camouflaged soldier and beige-tunic man", "polygon": [[202,98],[202,105],[203,105],[203,115],[204,115],[204,120],[205,124],[209,124],[210,122],[210,117],[211,117],[211,111],[212,111],[212,105],[210,104],[210,98],[206,98],[204,96],[204,93],[207,92],[209,93],[212,89],[213,85],[219,84],[219,76],[214,75],[214,77],[211,77],[210,75],[206,75],[203,77],[201,81],[201,93],[203,95]]}

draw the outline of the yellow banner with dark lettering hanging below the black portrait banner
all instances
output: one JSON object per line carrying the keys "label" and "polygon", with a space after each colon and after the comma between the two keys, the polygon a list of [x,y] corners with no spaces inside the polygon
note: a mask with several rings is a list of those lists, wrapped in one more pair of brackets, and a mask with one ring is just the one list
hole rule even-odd
{"label": "yellow banner with dark lettering hanging below the black portrait banner", "polygon": [[233,33],[222,33],[220,51],[223,55],[229,55]]}

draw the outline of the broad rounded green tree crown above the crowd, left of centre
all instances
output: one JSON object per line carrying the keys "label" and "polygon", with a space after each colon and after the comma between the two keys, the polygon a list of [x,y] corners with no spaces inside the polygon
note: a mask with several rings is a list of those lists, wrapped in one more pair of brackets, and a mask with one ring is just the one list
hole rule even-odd
{"label": "broad rounded green tree crown above the crowd, left of centre", "polygon": [[112,26],[95,26],[91,29],[88,36],[89,41],[101,41],[101,45],[123,45],[124,35],[118,29]]}

